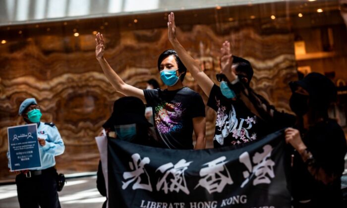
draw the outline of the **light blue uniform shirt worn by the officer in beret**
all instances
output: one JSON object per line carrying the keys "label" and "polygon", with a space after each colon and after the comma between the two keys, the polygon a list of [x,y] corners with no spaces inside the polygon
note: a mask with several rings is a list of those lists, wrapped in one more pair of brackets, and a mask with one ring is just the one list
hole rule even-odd
{"label": "light blue uniform shirt worn by the officer in beret", "polygon": [[[61,139],[58,128],[53,123],[47,124],[40,122],[37,127],[37,136],[40,139],[46,140],[44,147],[39,144],[42,167],[30,170],[43,170],[56,165],[55,156],[63,154],[65,150],[64,142]],[[7,152],[7,158],[8,167],[10,167],[9,152]]]}

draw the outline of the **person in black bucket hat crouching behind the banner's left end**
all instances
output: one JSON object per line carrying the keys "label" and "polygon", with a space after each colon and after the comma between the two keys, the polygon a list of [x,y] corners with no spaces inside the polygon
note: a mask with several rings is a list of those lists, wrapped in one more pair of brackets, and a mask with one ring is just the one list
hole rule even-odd
{"label": "person in black bucket hat crouching behind the banner's left end", "polygon": [[[103,128],[109,139],[121,139],[139,145],[161,147],[161,143],[153,137],[152,126],[145,117],[145,104],[135,97],[123,97],[115,101],[110,118]],[[102,196],[107,196],[102,163],[99,161],[97,172],[97,188]],[[107,200],[103,204],[106,208]]]}

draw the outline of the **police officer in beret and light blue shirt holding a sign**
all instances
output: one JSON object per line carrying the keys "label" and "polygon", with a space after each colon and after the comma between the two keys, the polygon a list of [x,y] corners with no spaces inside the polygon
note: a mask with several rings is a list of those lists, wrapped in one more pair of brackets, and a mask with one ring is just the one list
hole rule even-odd
{"label": "police officer in beret and light blue shirt holding a sign", "polygon": [[[27,124],[37,123],[41,168],[17,171],[16,185],[20,208],[60,208],[57,192],[55,156],[61,155],[64,143],[53,123],[40,122],[40,106],[28,98],[19,106],[18,114]],[[9,154],[7,152],[9,160]]]}

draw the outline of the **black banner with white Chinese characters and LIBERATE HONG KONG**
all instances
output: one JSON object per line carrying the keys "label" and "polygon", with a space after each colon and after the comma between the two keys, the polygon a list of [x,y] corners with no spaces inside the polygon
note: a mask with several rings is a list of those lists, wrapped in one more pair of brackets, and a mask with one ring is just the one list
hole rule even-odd
{"label": "black banner with white Chinese characters and LIBERATE HONG KONG", "polygon": [[289,208],[284,141],[194,151],[109,139],[109,208]]}

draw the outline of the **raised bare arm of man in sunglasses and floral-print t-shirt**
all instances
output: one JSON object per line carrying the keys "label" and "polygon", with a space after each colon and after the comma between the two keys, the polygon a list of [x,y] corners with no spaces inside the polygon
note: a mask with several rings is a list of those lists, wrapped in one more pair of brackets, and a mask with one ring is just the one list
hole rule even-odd
{"label": "raised bare arm of man in sunglasses and floral-print t-shirt", "polygon": [[169,41],[173,45],[174,50],[177,52],[184,66],[188,69],[193,78],[197,81],[198,85],[204,91],[205,95],[209,97],[214,83],[203,71],[200,71],[199,63],[196,60],[194,60],[189,55],[189,53],[183,48],[183,46],[178,42],[176,38],[176,26],[174,23],[173,12],[169,14],[168,18]]}

